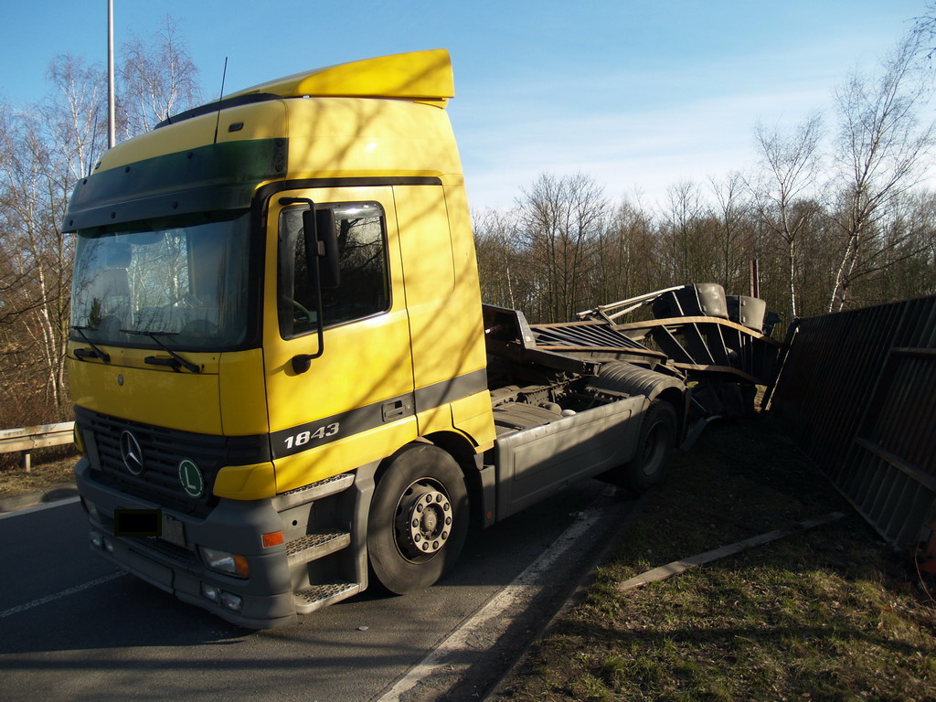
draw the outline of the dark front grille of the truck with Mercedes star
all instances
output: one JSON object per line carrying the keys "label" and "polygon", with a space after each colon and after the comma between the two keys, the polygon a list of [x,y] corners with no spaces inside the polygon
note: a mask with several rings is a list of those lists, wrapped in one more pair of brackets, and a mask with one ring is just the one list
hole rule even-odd
{"label": "dark front grille of the truck with Mercedes star", "polygon": [[[90,433],[94,438],[92,477],[97,482],[185,514],[206,515],[217,504],[212,488],[215,476],[224,466],[270,461],[266,435],[216,436],[179,431],[81,407],[75,408],[75,420],[82,433],[86,436]],[[140,475],[131,474],[124,464],[120,444],[124,431],[130,431],[139,442],[143,460]],[[190,497],[183,489],[179,463],[184,459],[194,461],[201,471],[204,489],[200,497]]]}

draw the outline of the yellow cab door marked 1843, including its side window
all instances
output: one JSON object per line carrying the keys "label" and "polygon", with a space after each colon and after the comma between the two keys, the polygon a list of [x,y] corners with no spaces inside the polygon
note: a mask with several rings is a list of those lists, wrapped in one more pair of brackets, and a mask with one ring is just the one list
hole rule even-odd
{"label": "yellow cab door marked 1843, including its side window", "polygon": [[[303,210],[334,212],[340,284],[305,270]],[[264,365],[277,492],[380,460],[417,436],[402,265],[389,187],[282,192],[267,221]],[[305,372],[292,359],[315,355]]]}

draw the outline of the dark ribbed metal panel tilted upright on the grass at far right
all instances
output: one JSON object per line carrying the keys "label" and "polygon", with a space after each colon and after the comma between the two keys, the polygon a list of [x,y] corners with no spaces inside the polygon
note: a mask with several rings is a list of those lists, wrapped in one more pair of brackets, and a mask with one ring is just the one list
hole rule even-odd
{"label": "dark ribbed metal panel tilted upright on the grass at far right", "polygon": [[895,547],[936,502],[936,297],[798,320],[771,413]]}

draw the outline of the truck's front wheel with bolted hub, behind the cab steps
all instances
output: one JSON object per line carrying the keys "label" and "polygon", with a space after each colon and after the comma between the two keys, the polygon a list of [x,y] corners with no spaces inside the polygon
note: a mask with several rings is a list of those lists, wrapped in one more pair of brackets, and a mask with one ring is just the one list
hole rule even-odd
{"label": "truck's front wheel with bolted hub, behind the cab steps", "polygon": [[395,594],[429,587],[458,560],[468,514],[459,464],[438,446],[403,446],[373,492],[367,528],[373,578]]}

